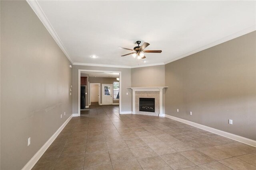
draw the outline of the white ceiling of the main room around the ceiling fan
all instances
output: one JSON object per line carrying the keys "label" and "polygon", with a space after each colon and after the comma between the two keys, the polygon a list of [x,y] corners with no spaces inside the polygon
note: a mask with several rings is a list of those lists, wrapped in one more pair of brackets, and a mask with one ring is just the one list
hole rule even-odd
{"label": "white ceiling of the main room around the ceiling fan", "polygon": [[[73,64],[164,64],[256,30],[255,1],[37,2],[46,18],[35,12]],[[162,53],[120,57],[131,51],[117,47],[132,49],[137,40]]]}

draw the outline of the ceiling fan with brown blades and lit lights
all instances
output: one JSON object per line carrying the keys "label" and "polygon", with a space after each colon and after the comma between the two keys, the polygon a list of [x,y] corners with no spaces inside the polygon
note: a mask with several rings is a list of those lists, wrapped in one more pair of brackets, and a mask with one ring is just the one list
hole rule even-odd
{"label": "ceiling fan with brown blades and lit lights", "polygon": [[149,43],[143,43],[142,46],[140,46],[141,41],[136,41],[136,43],[138,44],[138,46],[134,47],[133,49],[118,47],[120,49],[135,51],[129,54],[121,55],[121,56],[124,57],[126,55],[131,54],[133,58],[137,57],[137,59],[145,59],[146,56],[144,55],[144,53],[162,53],[162,50],[144,50],[146,47],[150,45]]}

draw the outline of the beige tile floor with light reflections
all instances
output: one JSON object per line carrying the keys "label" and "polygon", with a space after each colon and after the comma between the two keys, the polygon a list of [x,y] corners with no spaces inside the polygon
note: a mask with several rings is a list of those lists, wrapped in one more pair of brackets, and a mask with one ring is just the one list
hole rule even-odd
{"label": "beige tile floor with light reflections", "polygon": [[33,170],[256,170],[256,148],[164,117],[93,104]]}

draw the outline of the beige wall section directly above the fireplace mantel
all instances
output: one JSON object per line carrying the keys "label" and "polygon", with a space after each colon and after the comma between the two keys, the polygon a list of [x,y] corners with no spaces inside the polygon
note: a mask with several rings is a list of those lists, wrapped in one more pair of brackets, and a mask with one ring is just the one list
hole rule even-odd
{"label": "beige wall section directly above the fireplace mantel", "polygon": [[132,87],[165,86],[164,72],[164,65],[132,68]]}

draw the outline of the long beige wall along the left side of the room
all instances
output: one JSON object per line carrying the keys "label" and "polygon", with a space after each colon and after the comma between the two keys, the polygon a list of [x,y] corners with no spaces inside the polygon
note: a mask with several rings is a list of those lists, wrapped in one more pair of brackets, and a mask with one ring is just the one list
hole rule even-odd
{"label": "long beige wall along the left side of the room", "polygon": [[69,65],[26,1],[1,1],[1,170],[22,169],[70,117]]}

